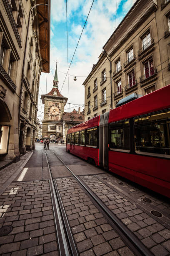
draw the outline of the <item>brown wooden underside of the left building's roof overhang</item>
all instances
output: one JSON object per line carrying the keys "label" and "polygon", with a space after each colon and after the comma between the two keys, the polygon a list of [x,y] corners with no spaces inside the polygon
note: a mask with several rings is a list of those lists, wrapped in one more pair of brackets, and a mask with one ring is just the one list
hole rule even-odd
{"label": "brown wooden underside of the left building's roof overhang", "polygon": [[50,73],[50,0],[36,0],[42,72]]}

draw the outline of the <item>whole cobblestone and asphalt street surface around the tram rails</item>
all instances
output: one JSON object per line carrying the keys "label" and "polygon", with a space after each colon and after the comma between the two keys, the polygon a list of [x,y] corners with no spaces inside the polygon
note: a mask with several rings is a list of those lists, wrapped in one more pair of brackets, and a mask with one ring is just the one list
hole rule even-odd
{"label": "whole cobblestone and asphalt street surface around the tram rails", "polygon": [[[3,256],[60,255],[55,223],[58,217],[47,159],[43,145],[36,146],[37,149],[22,156],[21,161],[0,171],[0,228],[5,228],[0,233],[0,255]],[[82,189],[54,152],[151,255],[170,255],[167,198],[68,154],[65,145],[51,144],[48,161],[80,256],[138,253],[117,233],[100,205]],[[161,216],[153,215],[154,210]],[[7,229],[10,232],[3,234]]]}

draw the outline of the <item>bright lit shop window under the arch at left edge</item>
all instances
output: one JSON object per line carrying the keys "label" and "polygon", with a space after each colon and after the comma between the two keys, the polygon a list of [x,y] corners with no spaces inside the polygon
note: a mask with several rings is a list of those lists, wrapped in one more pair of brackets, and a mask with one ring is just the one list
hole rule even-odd
{"label": "bright lit shop window under the arch at left edge", "polygon": [[0,154],[7,154],[10,126],[0,125]]}

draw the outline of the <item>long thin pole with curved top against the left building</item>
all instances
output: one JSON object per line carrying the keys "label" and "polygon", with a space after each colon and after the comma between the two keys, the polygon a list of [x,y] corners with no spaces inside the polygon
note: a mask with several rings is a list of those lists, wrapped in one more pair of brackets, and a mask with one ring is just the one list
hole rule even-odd
{"label": "long thin pole with curved top against the left building", "polygon": [[23,59],[23,70],[22,70],[22,80],[21,80],[21,89],[20,89],[20,102],[19,102],[19,110],[18,110],[18,133],[19,133],[19,128],[20,128],[21,95],[22,95],[22,91],[23,91],[24,67],[25,67],[25,57],[26,57],[27,42],[28,42],[28,31],[29,31],[29,27],[30,27],[30,17],[31,17],[32,10],[39,5],[47,5],[47,4],[40,3],[40,4],[36,4],[36,5],[32,6],[32,8],[30,9],[29,18],[28,18],[28,27],[27,27],[27,35],[26,35],[26,41],[25,41],[25,52],[24,52],[24,59]]}

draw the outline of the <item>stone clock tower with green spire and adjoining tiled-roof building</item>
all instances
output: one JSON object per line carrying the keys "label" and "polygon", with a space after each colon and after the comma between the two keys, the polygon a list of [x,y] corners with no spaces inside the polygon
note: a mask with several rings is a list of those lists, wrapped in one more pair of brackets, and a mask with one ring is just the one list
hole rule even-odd
{"label": "stone clock tower with green spire and adjoining tiled-roof building", "polygon": [[60,94],[58,90],[57,65],[53,80],[52,90],[41,95],[44,107],[44,119],[42,120],[42,139],[55,141],[57,138],[63,138],[67,134],[67,129],[77,123],[84,121],[84,113],[73,110],[65,112],[64,107],[68,98]]}

